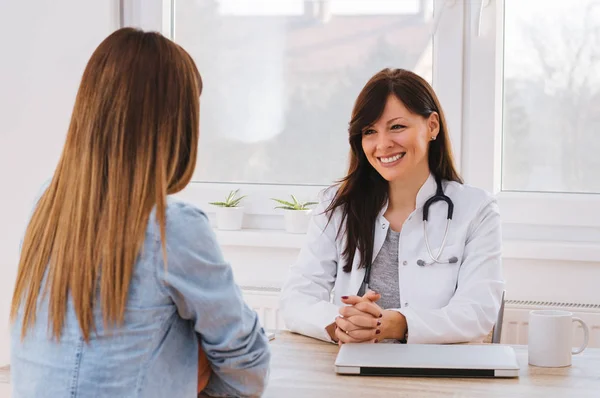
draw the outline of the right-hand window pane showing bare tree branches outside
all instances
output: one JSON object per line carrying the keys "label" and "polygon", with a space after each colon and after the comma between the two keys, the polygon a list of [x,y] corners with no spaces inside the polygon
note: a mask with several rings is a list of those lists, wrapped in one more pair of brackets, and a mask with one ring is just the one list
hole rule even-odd
{"label": "right-hand window pane showing bare tree branches outside", "polygon": [[600,1],[506,0],[502,188],[600,193]]}

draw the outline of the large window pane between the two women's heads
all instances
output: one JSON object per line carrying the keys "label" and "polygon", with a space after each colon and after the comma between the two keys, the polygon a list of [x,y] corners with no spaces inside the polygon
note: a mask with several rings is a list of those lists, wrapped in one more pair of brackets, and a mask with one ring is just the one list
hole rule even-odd
{"label": "large window pane between the two women's heads", "polygon": [[195,181],[328,185],[360,89],[385,67],[431,82],[433,1],[178,1],[204,80]]}

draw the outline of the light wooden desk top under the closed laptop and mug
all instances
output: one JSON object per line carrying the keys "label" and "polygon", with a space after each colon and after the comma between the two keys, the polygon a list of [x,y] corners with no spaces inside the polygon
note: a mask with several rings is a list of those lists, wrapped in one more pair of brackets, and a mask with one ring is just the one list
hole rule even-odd
{"label": "light wooden desk top under the closed laptop and mug", "polygon": [[341,376],[334,371],[338,346],[278,332],[271,341],[269,398],[350,397],[594,397],[600,398],[600,349],[573,356],[568,368],[527,364],[527,346],[515,346],[518,379],[448,379]]}

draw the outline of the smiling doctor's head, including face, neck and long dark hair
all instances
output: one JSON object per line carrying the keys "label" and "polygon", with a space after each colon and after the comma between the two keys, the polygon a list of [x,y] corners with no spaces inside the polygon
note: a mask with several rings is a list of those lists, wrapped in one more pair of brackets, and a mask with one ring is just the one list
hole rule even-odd
{"label": "smiling doctor's head, including face, neck and long dark hair", "polygon": [[[356,249],[365,252],[360,265],[368,265],[373,253],[372,225],[388,194],[393,202],[394,197],[403,200],[407,192],[416,193],[430,173],[462,182],[439,100],[429,83],[413,72],[384,69],[373,76],[356,99],[349,135],[350,168],[328,209],[344,209],[346,272]],[[371,186],[368,195],[367,184]],[[392,229],[400,231],[413,210],[414,206],[390,220]]]}

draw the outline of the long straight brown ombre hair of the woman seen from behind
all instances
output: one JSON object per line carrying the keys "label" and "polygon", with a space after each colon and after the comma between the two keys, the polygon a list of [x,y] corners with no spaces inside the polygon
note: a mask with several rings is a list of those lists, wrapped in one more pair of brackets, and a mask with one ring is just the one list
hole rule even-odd
{"label": "long straight brown ombre hair of the woman seen from behind", "polygon": [[201,90],[192,58],[158,33],[123,28],[94,51],[58,166],[25,233],[11,308],[13,322],[23,311],[22,337],[40,294],[49,294],[57,339],[69,296],[86,341],[96,305],[105,326],[122,323],[154,207],[166,261],[166,197],[192,177]]}

